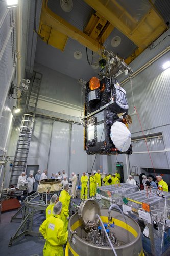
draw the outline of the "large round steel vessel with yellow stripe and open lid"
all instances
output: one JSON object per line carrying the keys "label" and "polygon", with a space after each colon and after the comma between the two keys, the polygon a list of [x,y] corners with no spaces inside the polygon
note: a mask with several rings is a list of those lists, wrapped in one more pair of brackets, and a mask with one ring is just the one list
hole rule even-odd
{"label": "large round steel vessel with yellow stripe and open lid", "polygon": [[[80,255],[80,256],[108,256],[114,255],[111,246],[102,246],[101,244],[94,244],[90,239],[94,233],[98,232],[101,223],[96,219],[96,213],[102,219],[104,224],[108,224],[108,209],[99,209],[97,203],[87,200],[82,202],[79,212],[72,215],[68,224],[68,244],[65,250],[65,255]],[[87,205],[86,205],[87,204]],[[89,209],[89,205],[91,209]],[[91,215],[90,215],[91,212]],[[85,216],[85,218],[83,218]],[[113,233],[116,239],[114,249],[118,256],[142,256],[142,242],[140,227],[135,220],[127,215],[121,214],[117,210],[111,210],[112,225],[106,225],[107,230]],[[94,225],[97,223],[98,227],[94,230]],[[109,228],[109,229],[108,229]],[[104,232],[103,232],[104,233]],[[92,234],[92,235],[91,235]],[[99,234],[99,233],[98,233]],[[106,238],[105,238],[106,241]],[[106,243],[105,243],[106,245]]]}

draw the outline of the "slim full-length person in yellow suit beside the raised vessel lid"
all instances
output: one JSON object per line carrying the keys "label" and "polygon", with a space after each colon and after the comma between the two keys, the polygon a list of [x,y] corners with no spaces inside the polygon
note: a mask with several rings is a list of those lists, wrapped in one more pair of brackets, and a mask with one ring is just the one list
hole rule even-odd
{"label": "slim full-length person in yellow suit beside the raised vessel lid", "polygon": [[68,228],[68,220],[69,220],[69,203],[71,196],[68,193],[69,184],[64,185],[64,190],[61,191],[59,201],[62,202],[62,220],[64,221],[65,231]]}

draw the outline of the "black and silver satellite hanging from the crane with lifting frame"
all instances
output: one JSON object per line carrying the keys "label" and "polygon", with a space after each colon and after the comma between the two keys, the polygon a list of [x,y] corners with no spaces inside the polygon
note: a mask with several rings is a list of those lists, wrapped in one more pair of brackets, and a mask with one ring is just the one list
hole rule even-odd
{"label": "black and silver satellite hanging from the crane with lifting frame", "polygon": [[[85,83],[84,147],[87,154],[132,154],[126,91],[117,76],[132,70],[112,52],[103,52],[101,72]],[[102,64],[101,64],[102,63]]]}

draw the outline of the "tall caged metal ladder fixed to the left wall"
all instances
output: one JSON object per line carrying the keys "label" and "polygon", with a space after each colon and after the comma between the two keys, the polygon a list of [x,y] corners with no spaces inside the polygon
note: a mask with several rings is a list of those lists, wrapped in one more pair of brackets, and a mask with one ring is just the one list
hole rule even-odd
{"label": "tall caged metal ladder fixed to the left wall", "polygon": [[34,117],[37,108],[41,79],[42,74],[35,72],[28,103],[26,104],[26,114],[23,114],[22,116],[9,187],[12,185],[16,186],[18,177],[26,170],[31,136],[34,129]]}

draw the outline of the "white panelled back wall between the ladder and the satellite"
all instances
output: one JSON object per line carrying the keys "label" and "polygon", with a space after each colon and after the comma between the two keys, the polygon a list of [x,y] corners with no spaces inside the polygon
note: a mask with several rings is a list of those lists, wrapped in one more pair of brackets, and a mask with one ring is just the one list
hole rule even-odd
{"label": "white panelled back wall between the ladder and the satellite", "polygon": [[63,169],[69,176],[87,172],[83,133],[82,125],[36,117],[27,165],[39,165],[41,171],[47,168],[48,177]]}

